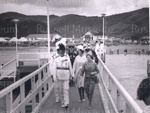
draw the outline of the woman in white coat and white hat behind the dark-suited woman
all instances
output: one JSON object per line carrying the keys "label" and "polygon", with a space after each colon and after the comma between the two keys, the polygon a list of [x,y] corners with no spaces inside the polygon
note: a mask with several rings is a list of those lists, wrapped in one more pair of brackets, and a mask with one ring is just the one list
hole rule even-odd
{"label": "woman in white coat and white hat behind the dark-suited woman", "polygon": [[78,49],[78,56],[75,58],[74,64],[73,64],[73,72],[75,77],[75,82],[78,87],[79,101],[85,101],[84,98],[84,76],[80,76],[81,68],[83,64],[86,62],[86,56],[84,55],[83,46],[79,45],[77,46]]}

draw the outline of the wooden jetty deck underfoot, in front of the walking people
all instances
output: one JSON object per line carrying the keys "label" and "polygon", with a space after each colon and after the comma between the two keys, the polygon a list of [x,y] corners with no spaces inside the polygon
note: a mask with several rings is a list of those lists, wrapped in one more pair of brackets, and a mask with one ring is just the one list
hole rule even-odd
{"label": "wooden jetty deck underfoot, in front of the walking people", "polygon": [[92,110],[88,110],[88,100],[85,94],[85,102],[79,102],[79,94],[77,87],[70,88],[70,104],[69,109],[66,111],[64,108],[61,108],[61,103],[55,103],[54,93],[47,99],[46,103],[43,105],[39,113],[104,113],[104,107],[96,85],[93,101],[92,101]]}

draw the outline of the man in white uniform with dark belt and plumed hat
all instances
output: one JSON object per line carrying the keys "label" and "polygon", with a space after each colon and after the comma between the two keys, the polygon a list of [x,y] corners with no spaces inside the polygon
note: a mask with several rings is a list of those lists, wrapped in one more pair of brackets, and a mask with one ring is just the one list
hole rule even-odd
{"label": "man in white uniform with dark belt and plumed hat", "polygon": [[58,45],[59,56],[55,58],[56,77],[60,86],[61,107],[69,106],[69,79],[72,77],[72,66],[69,56],[65,53],[65,46],[61,43]]}

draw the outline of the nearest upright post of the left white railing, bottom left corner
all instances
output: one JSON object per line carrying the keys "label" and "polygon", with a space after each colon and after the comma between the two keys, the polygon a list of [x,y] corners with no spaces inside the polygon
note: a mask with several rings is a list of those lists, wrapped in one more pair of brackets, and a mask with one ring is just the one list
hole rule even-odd
{"label": "nearest upright post of the left white railing, bottom left corner", "polygon": [[6,95],[6,112],[11,113],[12,111],[12,91]]}

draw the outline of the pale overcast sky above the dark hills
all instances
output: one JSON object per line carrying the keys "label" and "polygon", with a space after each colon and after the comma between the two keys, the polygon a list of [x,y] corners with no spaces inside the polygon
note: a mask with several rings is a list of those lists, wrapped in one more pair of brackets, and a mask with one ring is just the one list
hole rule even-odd
{"label": "pale overcast sky above the dark hills", "polygon": [[46,15],[46,5],[50,14],[78,14],[100,16],[118,14],[149,7],[149,0],[0,0],[0,13],[13,11],[27,15]]}

